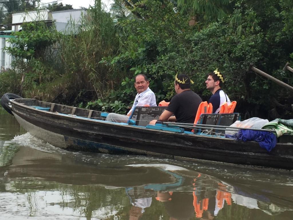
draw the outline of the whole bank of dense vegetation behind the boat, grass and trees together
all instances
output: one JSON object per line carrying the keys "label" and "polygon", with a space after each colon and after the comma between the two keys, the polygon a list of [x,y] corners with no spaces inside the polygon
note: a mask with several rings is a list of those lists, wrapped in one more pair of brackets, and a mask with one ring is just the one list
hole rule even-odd
{"label": "whole bank of dense vegetation behind the boat, grass and trees together", "polygon": [[[282,71],[293,59],[291,1],[216,2],[212,7],[202,0],[127,4],[116,0],[110,16],[96,1],[88,10],[91,19],[84,18],[77,34],[56,38],[60,49],[59,61],[50,65],[53,77],[45,74],[46,82],[32,80],[35,87],[27,87],[24,94],[125,112],[135,95],[134,75],[146,74],[157,101],[161,101],[175,94],[173,77],[188,74],[195,82],[193,91],[207,100],[211,94],[205,89],[206,74],[219,68],[227,77],[224,90],[238,102],[236,110],[244,118],[292,118],[292,92],[248,71],[253,62],[260,70],[293,84],[293,73]],[[43,66],[39,72],[47,71],[50,59],[34,56],[32,60],[30,72],[24,70],[26,75],[35,74],[36,64]],[[8,74],[1,74],[0,79],[21,80],[11,75],[10,79]],[[0,93],[20,91],[8,84],[0,88]]]}

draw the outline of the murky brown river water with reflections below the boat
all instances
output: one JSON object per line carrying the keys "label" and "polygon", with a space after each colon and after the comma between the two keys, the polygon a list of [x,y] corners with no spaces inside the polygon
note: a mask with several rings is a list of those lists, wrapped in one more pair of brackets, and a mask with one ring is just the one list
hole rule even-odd
{"label": "murky brown river water with reflections below the boat", "polygon": [[0,219],[291,220],[292,189],[282,170],[69,152],[0,109]]}

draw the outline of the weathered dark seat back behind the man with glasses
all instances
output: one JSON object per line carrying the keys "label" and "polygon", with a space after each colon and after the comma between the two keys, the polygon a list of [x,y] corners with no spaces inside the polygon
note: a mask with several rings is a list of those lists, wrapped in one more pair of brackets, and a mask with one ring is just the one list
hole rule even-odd
{"label": "weathered dark seat back behind the man with glasses", "polygon": [[[220,125],[220,126],[230,126],[236,120],[240,120],[239,113],[229,113],[229,114],[201,114],[198,120],[199,124],[207,125]],[[225,134],[224,130],[213,129],[214,132]],[[201,133],[202,129],[197,129],[197,133]]]}

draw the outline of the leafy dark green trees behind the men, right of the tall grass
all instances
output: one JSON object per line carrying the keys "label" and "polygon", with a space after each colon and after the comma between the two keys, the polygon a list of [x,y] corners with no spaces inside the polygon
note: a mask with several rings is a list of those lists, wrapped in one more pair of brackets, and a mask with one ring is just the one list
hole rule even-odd
{"label": "leafy dark green trees behind the men, right of the tall grass", "polygon": [[133,11],[147,19],[121,20],[120,25],[131,32],[121,42],[118,55],[102,62],[125,71],[128,78],[148,74],[155,93],[167,98],[174,94],[173,77],[184,72],[195,81],[193,90],[205,100],[210,96],[204,86],[206,73],[219,67],[228,78],[224,89],[238,101],[236,110],[243,116],[289,117],[292,94],[247,71],[253,62],[274,77],[293,83],[292,73],[280,70],[293,51],[289,1],[231,3],[234,10],[226,10],[221,19],[202,18],[190,25],[192,14],[176,12],[168,1],[140,1],[137,4],[143,7],[135,5]]}

